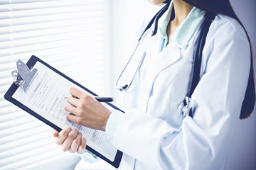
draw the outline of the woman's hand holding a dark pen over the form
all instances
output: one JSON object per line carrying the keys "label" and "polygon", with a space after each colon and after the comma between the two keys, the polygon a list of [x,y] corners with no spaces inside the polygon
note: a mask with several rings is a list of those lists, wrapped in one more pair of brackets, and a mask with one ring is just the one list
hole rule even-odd
{"label": "woman's hand holding a dark pen over the form", "polygon": [[69,92],[71,96],[67,101],[70,105],[65,106],[65,111],[69,114],[66,118],[78,125],[105,131],[107,120],[112,112],[97,101],[110,102],[113,98],[93,97],[74,87],[71,87]]}

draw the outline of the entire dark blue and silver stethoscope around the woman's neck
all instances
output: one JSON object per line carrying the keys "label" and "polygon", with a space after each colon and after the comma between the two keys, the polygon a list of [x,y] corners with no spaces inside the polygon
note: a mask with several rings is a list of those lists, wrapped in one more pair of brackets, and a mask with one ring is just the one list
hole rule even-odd
{"label": "entire dark blue and silver stethoscope around the woman's neck", "polygon": [[[144,60],[146,52],[144,52],[144,54],[142,55],[142,58],[139,61],[139,65],[138,65],[138,67],[136,69],[136,72],[134,72],[134,75],[133,75],[131,81],[129,82],[129,84],[125,84],[125,85],[122,85],[122,86],[118,85],[119,84],[119,79],[122,77],[122,74],[124,73],[124,70],[127,68],[129,62],[132,60],[132,57],[134,56],[134,53],[136,52],[139,44],[144,39],[145,34],[151,28],[153,23],[155,23],[155,25],[154,25],[154,30],[152,31],[151,36],[156,34],[157,29],[158,29],[159,18],[161,18],[161,16],[163,16],[163,14],[167,11],[167,9],[169,8],[169,5],[170,5],[170,1],[163,8],[161,8],[161,10],[158,13],[156,13],[156,15],[151,19],[149,24],[146,26],[146,29],[142,33],[141,37],[139,38],[138,44],[135,47],[135,50],[132,53],[132,56],[129,58],[129,61],[127,62],[126,66],[122,70],[119,78],[117,79],[116,89],[118,89],[119,91],[127,91],[127,89],[129,89],[129,86],[131,86],[132,81],[134,81],[134,77],[136,76],[137,72],[139,71],[139,67],[141,66],[142,61]],[[173,16],[173,14],[174,13],[172,13],[172,16]],[[203,23],[201,24],[201,27],[199,28],[200,29],[200,33],[198,35],[198,39],[197,39],[197,42],[196,42],[196,50],[195,50],[195,53],[193,54],[192,75],[191,75],[191,81],[188,84],[188,87],[189,87],[188,93],[186,94],[186,97],[181,102],[181,104],[178,106],[178,113],[180,113],[181,115],[184,115],[184,116],[188,116],[189,115],[189,116],[193,117],[193,113],[192,113],[192,109],[191,109],[191,96],[193,94],[193,91],[196,89],[196,86],[197,86],[197,84],[198,84],[198,82],[200,80],[201,58],[202,58],[203,47],[204,47],[205,42],[206,42],[206,35],[208,33],[210,24],[214,20],[215,16],[216,16],[215,13],[206,12],[206,15],[205,15],[205,18],[203,20]]]}

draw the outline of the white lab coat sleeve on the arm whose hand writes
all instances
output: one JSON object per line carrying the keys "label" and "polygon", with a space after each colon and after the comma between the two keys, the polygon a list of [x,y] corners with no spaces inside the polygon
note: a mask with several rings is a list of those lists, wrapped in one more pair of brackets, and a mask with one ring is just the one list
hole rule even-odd
{"label": "white lab coat sleeve on the arm whose hand writes", "polygon": [[184,118],[181,128],[174,128],[132,108],[117,123],[112,145],[154,169],[220,169],[239,120],[250,69],[245,34],[230,32],[213,26],[208,33],[206,67],[192,96],[193,118]]}

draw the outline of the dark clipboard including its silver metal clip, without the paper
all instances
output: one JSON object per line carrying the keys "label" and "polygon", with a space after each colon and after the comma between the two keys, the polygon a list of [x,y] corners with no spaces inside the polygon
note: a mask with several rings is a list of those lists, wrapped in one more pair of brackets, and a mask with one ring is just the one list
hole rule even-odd
{"label": "dark clipboard including its silver metal clip, without the paper", "polygon": [[[20,61],[20,60],[18,60],[18,61]],[[87,93],[92,94],[92,96],[97,96],[97,94],[93,93],[89,89],[85,88],[85,86],[82,86],[81,84],[74,81],[73,79],[70,79],[70,77],[67,77],[65,74],[59,72],[57,69],[51,67],[49,64],[47,64],[46,62],[43,62],[42,60],[40,60],[38,57],[36,57],[34,55],[31,56],[31,58],[28,60],[28,62],[26,63],[25,66],[23,65],[23,62],[17,62],[18,70],[11,73],[13,77],[16,77],[16,80],[14,80],[14,83],[11,84],[8,91],[6,91],[4,98],[7,101],[14,103],[14,105],[18,106],[19,108],[23,109],[23,111],[26,111],[27,113],[33,115],[38,120],[43,121],[43,123],[46,123],[50,127],[54,128],[55,130],[58,130],[58,132],[60,132],[62,130],[62,128],[60,128],[58,125],[55,125],[55,123],[49,121],[48,119],[44,118],[40,114],[36,113],[36,111],[34,111],[35,109],[28,108],[23,103],[21,103],[20,101],[16,100],[16,98],[14,98],[14,94],[16,93],[16,91],[18,91],[18,89],[23,89],[23,92],[26,92],[31,84],[31,81],[33,81],[34,77],[37,76],[38,70],[36,68],[32,69],[36,65],[37,62],[43,64],[44,67],[47,67],[48,69],[57,73],[58,76],[67,79],[68,81],[70,81],[70,83],[75,84],[76,86],[79,86],[81,89],[87,91]],[[119,108],[114,106],[112,103],[105,103],[105,104],[107,104],[107,106],[110,106],[113,109],[121,111]],[[97,155],[97,157],[100,157],[101,159],[105,160],[105,162],[111,164],[115,168],[119,167],[119,164],[122,159],[121,151],[117,150],[115,153],[114,159],[111,160],[111,159],[108,159],[107,157],[105,157],[102,153],[97,152],[96,149],[94,149],[88,145],[87,145],[86,149],[89,150],[90,152],[92,152],[93,154]]]}

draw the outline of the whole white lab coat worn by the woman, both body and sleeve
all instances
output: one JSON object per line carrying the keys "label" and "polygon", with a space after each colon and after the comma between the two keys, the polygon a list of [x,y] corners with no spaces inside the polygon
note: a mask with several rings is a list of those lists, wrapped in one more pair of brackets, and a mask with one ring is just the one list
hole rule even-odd
{"label": "whole white lab coat worn by the woman, both body and sleeve", "polygon": [[188,92],[197,36],[198,31],[186,49],[170,42],[161,51],[160,33],[143,41],[144,62],[129,90],[120,92],[125,114],[112,145],[124,152],[122,169],[230,169],[250,45],[237,21],[216,16],[203,49],[201,81],[192,95],[194,115],[184,117],[178,105]]}

